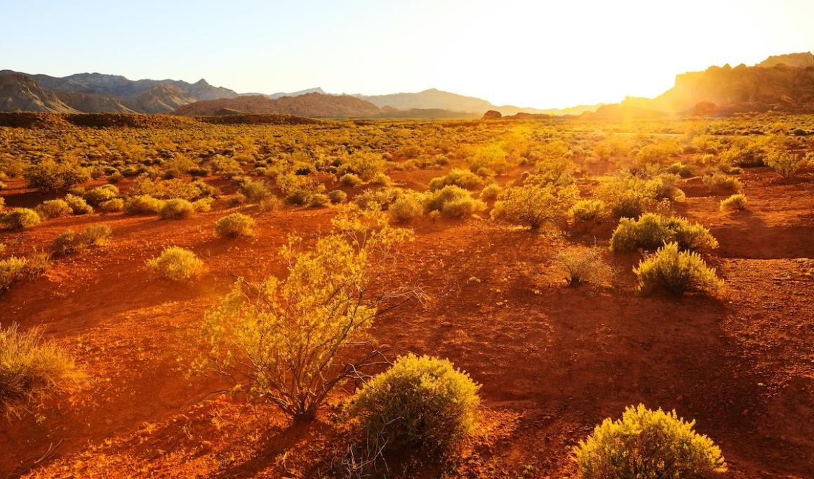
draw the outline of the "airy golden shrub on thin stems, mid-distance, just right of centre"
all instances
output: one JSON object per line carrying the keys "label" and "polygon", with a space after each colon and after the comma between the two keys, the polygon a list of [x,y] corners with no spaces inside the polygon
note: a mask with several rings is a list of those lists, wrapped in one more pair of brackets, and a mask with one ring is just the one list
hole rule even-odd
{"label": "airy golden shrub on thin stems, mid-distance, just right of centre", "polygon": [[492,218],[526,224],[536,229],[565,218],[571,205],[579,198],[580,191],[574,186],[527,183],[503,191],[492,209]]}

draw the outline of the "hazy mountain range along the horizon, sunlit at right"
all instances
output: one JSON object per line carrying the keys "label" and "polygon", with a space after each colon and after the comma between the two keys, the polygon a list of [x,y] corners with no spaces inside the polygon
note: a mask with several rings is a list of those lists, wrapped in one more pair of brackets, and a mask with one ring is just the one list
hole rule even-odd
{"label": "hazy mountain range along the horizon, sunlit at right", "polygon": [[322,88],[291,93],[239,94],[228,88],[179,80],[129,80],[119,75],[78,73],[68,77],[0,71],[3,112],[124,112],[188,116],[289,114],[317,117],[475,118],[490,110],[597,116],[729,114],[781,110],[814,112],[814,55],[775,55],[754,67],[710,67],[682,73],[655,99],[628,98],[609,105],[566,109],[496,106],[487,100],[430,89],[418,93],[327,94]]}

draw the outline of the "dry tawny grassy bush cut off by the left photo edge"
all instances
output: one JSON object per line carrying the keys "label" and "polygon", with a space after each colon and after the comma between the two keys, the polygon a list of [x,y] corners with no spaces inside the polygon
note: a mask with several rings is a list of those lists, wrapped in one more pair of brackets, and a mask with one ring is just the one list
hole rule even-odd
{"label": "dry tawny grassy bush cut off by the left photo edge", "polygon": [[53,394],[68,393],[82,374],[68,352],[38,328],[0,327],[0,413],[20,417]]}

